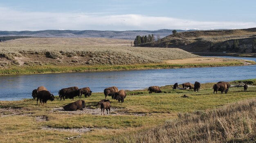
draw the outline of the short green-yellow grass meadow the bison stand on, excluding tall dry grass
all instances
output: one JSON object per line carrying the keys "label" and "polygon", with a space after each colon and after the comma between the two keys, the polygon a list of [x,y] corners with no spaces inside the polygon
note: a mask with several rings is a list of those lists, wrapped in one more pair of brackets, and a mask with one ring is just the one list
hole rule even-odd
{"label": "short green-yellow grass meadow the bison stand on, excluding tall dry grass", "polygon": [[[247,81],[256,84],[256,79]],[[171,86],[162,87],[164,93],[156,94],[148,94],[146,90],[128,91],[123,104],[110,100],[112,113],[105,116],[100,115],[96,106],[99,100],[105,98],[103,93],[82,98],[86,103],[84,111],[62,111],[65,104],[73,101],[60,101],[57,97],[45,106],[36,105],[36,100],[32,99],[0,101],[0,141],[70,142],[67,137],[79,134],[81,137],[72,142],[115,141],[124,134],[146,131],[165,121],[175,120],[180,113],[220,108],[229,103],[256,98],[256,87],[249,87],[246,93],[243,88],[233,87],[227,94],[221,95],[213,94],[212,85],[202,84],[200,92],[171,89]],[[189,98],[181,98],[184,94]],[[90,131],[79,131],[84,128]]]}

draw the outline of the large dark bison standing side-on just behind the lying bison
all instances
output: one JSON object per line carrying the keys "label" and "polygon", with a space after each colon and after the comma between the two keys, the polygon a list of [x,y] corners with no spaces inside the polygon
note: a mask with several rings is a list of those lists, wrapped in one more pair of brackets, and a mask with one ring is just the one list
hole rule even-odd
{"label": "large dark bison standing side-on just behind the lying bison", "polygon": [[66,99],[72,98],[74,100],[74,97],[80,96],[80,92],[81,92],[81,90],[78,89],[78,87],[68,87],[68,88],[63,88],[63,89],[59,90],[58,94],[59,94],[60,98],[63,98],[63,100],[65,100],[64,97]]}

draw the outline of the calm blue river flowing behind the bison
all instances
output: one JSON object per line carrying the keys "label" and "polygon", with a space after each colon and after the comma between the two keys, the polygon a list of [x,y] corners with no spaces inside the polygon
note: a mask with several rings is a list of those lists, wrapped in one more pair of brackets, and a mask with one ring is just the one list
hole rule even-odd
{"label": "calm blue river flowing behind the bison", "polygon": [[[241,58],[220,56],[225,58]],[[256,58],[243,58],[256,61]],[[32,98],[33,89],[45,86],[51,93],[65,87],[90,87],[103,92],[106,87],[118,89],[145,89],[149,86],[173,85],[184,82],[200,83],[256,78],[256,65],[237,67],[200,67],[184,69],[149,69],[114,72],[74,72],[61,74],[34,74],[0,76],[0,100]]]}

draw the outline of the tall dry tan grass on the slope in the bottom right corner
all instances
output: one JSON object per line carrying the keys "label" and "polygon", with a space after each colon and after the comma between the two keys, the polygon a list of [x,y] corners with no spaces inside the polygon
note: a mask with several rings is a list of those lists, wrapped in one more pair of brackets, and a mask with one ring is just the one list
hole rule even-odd
{"label": "tall dry tan grass on the slope in the bottom right corner", "polygon": [[162,126],[113,139],[112,143],[255,142],[256,99],[214,110],[179,114]]}

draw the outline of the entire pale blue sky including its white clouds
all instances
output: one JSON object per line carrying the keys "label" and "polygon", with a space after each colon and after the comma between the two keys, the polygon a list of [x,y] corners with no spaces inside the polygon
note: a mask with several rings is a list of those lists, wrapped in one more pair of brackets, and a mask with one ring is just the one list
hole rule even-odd
{"label": "entire pale blue sky including its white clouds", "polygon": [[0,30],[252,28],[255,6],[255,0],[0,0]]}

